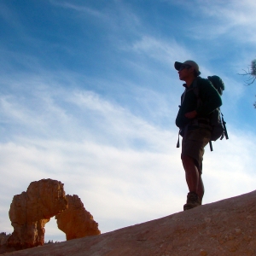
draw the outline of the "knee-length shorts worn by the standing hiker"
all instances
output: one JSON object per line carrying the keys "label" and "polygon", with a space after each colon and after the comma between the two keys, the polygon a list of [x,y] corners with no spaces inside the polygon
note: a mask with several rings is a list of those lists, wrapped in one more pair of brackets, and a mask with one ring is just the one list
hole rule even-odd
{"label": "knee-length shorts worn by the standing hiker", "polygon": [[188,155],[195,160],[199,172],[202,172],[202,160],[205,146],[209,143],[211,131],[205,128],[188,130],[183,136],[182,155]]}

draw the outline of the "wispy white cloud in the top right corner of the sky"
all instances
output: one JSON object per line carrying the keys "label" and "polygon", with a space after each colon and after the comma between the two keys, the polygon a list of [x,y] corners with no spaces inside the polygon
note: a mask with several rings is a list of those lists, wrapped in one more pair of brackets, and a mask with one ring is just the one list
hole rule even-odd
{"label": "wispy white cloud in the top right corner of the sky", "polygon": [[[186,7],[186,4],[183,6]],[[193,34],[195,37],[208,39],[233,36],[243,42],[255,43],[256,38],[252,33],[256,21],[255,9],[256,4],[250,0],[243,2],[198,0],[197,4],[193,3],[191,8],[194,15],[198,17],[198,26],[195,27]],[[203,24],[201,24],[201,15],[204,19]]]}

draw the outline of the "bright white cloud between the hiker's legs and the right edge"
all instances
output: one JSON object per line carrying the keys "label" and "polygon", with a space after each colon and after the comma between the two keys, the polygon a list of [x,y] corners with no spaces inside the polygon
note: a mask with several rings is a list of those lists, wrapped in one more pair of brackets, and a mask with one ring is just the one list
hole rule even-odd
{"label": "bright white cloud between the hiker's legs and the right edge", "polygon": [[229,128],[230,140],[213,143],[204,161],[205,202],[219,201],[255,189],[255,137]]}

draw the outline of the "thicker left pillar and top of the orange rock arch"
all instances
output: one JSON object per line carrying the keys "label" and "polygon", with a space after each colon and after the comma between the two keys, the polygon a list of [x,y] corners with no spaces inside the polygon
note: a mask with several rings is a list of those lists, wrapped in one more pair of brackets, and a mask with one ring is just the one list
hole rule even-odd
{"label": "thicker left pillar and top of the orange rock arch", "polygon": [[14,232],[7,245],[16,249],[44,244],[44,225],[49,219],[67,209],[63,184],[42,179],[30,183],[26,192],[15,195],[9,209]]}

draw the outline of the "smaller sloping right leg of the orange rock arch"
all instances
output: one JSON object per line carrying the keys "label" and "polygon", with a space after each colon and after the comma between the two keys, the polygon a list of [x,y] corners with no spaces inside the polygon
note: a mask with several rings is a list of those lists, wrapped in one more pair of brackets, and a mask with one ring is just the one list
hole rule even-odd
{"label": "smaller sloping right leg of the orange rock arch", "polygon": [[84,209],[84,204],[78,195],[67,195],[68,207],[64,212],[56,215],[58,228],[62,230],[67,240],[84,236],[100,235],[98,224],[90,212]]}

